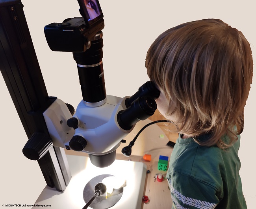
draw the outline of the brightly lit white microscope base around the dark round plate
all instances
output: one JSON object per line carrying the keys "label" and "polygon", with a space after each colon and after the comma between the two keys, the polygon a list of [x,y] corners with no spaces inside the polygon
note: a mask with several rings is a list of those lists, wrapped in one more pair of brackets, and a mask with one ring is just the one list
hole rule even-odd
{"label": "brightly lit white microscope base around the dark round plate", "polygon": [[[45,187],[37,201],[38,205],[51,205],[52,208],[81,209],[85,205],[83,190],[85,185],[99,175],[110,174],[126,179],[121,199],[111,209],[140,209],[144,192],[147,166],[141,162],[115,160],[105,168],[95,167],[85,156],[67,155],[72,178],[64,192]],[[90,207],[89,207],[90,208]]]}

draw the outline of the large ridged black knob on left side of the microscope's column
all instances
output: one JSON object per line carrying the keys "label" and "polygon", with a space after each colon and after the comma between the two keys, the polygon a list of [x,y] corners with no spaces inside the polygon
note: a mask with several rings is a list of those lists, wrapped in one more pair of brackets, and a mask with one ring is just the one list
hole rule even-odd
{"label": "large ridged black knob on left side of the microscope's column", "polygon": [[22,149],[28,159],[38,160],[52,147],[52,139],[45,133],[35,132]]}

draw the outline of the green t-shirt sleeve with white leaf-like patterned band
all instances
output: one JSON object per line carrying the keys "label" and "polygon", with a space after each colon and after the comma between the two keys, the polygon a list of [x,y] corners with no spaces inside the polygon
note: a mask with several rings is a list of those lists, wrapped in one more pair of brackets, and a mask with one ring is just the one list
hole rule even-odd
{"label": "green t-shirt sleeve with white leaf-like patterned band", "polygon": [[173,172],[168,178],[174,209],[213,209],[219,203],[217,189],[190,175]]}

